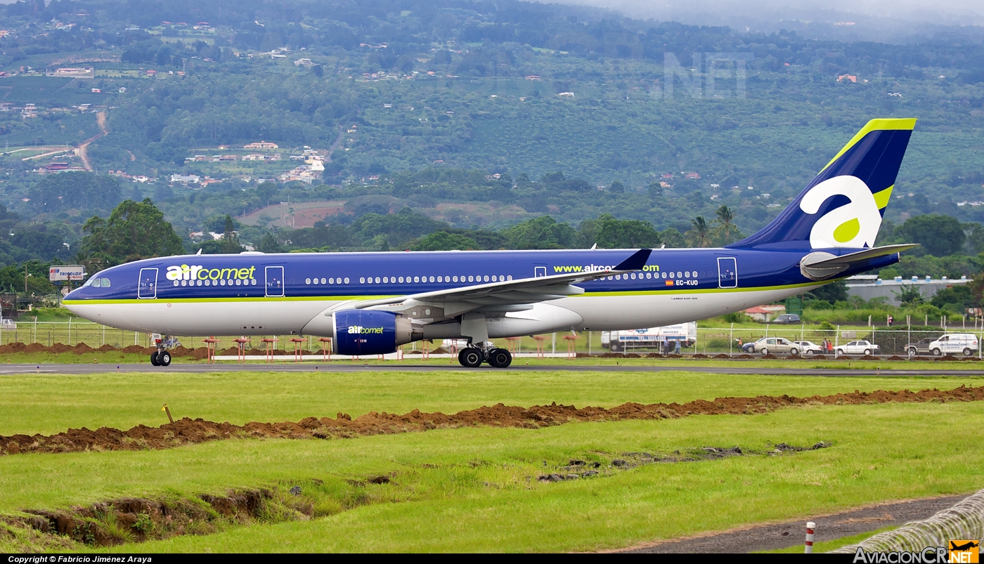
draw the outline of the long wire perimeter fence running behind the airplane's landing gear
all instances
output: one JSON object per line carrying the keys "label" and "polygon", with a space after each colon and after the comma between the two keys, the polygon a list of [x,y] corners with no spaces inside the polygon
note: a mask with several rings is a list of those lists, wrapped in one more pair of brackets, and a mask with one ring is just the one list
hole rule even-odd
{"label": "long wire perimeter fence running behind the airplane's landing gear", "polygon": [[[969,325],[969,326],[968,326]],[[839,356],[838,350],[842,350],[845,355],[856,357],[864,355],[865,351],[870,350],[864,345],[851,346],[855,341],[868,341],[877,345],[877,349],[872,351],[873,356],[881,357],[907,357],[909,349],[913,345],[917,347],[917,356],[934,356],[934,351],[927,348],[931,341],[935,341],[945,334],[969,334],[977,337],[977,343],[969,351],[972,357],[981,357],[981,342],[984,340],[984,329],[978,323],[958,322],[955,326],[945,325],[941,327],[926,325],[895,325],[871,326],[871,325],[838,325],[832,328],[817,325],[777,325],[761,324],[749,326],[718,326],[718,327],[698,327],[696,335],[689,335],[686,340],[681,340],[679,354],[682,356],[707,356],[717,357],[740,357],[742,355],[761,356],[762,347],[756,347],[754,351],[743,351],[750,343],[755,343],[761,338],[780,338],[791,343],[809,343],[808,345],[797,345],[796,349],[799,356],[815,356],[821,354],[825,341],[830,343],[828,356]],[[235,349],[237,335],[216,335],[215,350],[221,354],[223,351]],[[273,343],[277,351],[292,352],[300,347],[303,351],[316,354],[320,353],[325,343],[315,336],[297,335],[266,335],[248,337],[246,349],[265,350],[269,343],[263,339],[276,338]],[[303,339],[297,342],[291,339]],[[543,353],[552,354],[571,354],[573,355],[619,355],[632,357],[634,355],[649,356],[674,355],[677,354],[676,340],[662,339],[658,335],[650,332],[643,341],[620,341],[610,334],[601,331],[584,331],[579,333],[557,332],[544,335],[523,336],[515,339],[492,339],[496,346],[507,348],[514,353],[536,353],[537,350]],[[176,337],[175,345],[180,344],[189,349],[205,347],[203,337]],[[922,343],[920,343],[922,341]],[[114,329],[91,321],[80,321],[72,319],[70,321],[18,321],[3,320],[0,322],[0,345],[11,343],[24,343],[30,345],[37,343],[45,347],[61,344],[74,347],[84,343],[93,349],[98,349],[109,345],[115,349],[122,349],[128,346],[139,345],[141,347],[153,346],[150,333],[135,331],[125,331]],[[615,344],[613,348],[611,345]],[[428,352],[456,352],[463,342],[439,341],[433,343],[410,343],[403,346],[404,354],[420,353],[424,346]],[[787,355],[788,352],[781,347],[768,347],[770,354],[776,356]],[[874,348],[874,347],[872,347]],[[966,347],[950,350],[941,350],[940,355],[953,355],[957,357],[967,356]]]}

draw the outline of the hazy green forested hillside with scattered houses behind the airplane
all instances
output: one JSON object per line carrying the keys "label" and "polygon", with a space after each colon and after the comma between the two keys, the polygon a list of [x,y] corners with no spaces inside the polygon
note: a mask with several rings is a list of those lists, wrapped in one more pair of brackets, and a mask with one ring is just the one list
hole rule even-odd
{"label": "hazy green forested hillside with scattered houses behind the airplane", "polygon": [[[868,119],[914,116],[880,243],[924,251],[885,274],[980,271],[984,45],[955,28],[848,42],[464,0],[31,0],[0,28],[14,269],[126,259],[91,244],[124,201],[189,252],[718,244]],[[282,159],[219,161],[253,141]],[[278,181],[305,149],[324,171]]]}

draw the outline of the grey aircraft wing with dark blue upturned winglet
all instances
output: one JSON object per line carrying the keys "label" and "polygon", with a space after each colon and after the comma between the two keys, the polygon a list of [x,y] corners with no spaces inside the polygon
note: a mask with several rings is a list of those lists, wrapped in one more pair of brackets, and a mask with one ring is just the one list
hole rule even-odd
{"label": "grey aircraft wing with dark blue upturned winglet", "polygon": [[445,317],[479,309],[490,311],[524,310],[528,308],[522,308],[522,306],[528,304],[584,294],[584,288],[575,286],[579,282],[642,270],[650,253],[652,253],[651,249],[637,251],[608,270],[572,272],[421,292],[364,302],[357,304],[355,309],[394,310],[394,307],[408,308],[427,304],[443,308],[443,316]]}

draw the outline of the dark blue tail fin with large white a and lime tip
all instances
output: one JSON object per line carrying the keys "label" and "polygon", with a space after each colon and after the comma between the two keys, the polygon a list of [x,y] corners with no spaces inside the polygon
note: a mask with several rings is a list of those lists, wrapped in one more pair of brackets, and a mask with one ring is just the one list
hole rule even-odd
{"label": "dark blue tail fin with large white a and lime tip", "polygon": [[870,249],[916,120],[871,120],[761,231],[729,248]]}

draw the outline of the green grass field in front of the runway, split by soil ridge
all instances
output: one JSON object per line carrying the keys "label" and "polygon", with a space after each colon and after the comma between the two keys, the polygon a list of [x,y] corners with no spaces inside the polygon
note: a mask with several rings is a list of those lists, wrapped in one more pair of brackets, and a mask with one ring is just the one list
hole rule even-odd
{"label": "green grass field in front of the runway, split by soil ridge", "polygon": [[[412,409],[453,413],[503,402],[610,407],[723,396],[947,389],[982,378],[803,378],[706,373],[515,371],[406,374],[221,373],[0,377],[0,434],[126,428],[175,417],[289,421]],[[892,499],[970,492],[984,465],[977,403],[809,406],[756,416],[469,427],[339,440],[235,439],[161,451],[0,457],[0,513],[121,496],[194,496],[324,480],[324,517],[228,527],[123,551],[565,551],[629,546]],[[556,483],[571,458],[703,446],[817,451],[646,465]],[[546,467],[544,467],[546,464]],[[346,479],[392,476],[346,503]],[[318,487],[314,487],[318,490]],[[333,497],[334,496],[334,497]],[[333,501],[334,499],[334,501]],[[8,544],[5,545],[5,542]],[[10,550],[0,536],[0,550]],[[75,548],[78,548],[76,546]]]}

